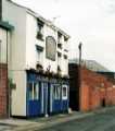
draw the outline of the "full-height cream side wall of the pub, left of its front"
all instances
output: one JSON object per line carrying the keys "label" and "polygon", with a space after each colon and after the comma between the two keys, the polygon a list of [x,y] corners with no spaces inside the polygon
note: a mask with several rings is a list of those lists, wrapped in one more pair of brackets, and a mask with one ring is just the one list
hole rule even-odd
{"label": "full-height cream side wall of the pub, left of its front", "polygon": [[16,84],[12,90],[11,110],[14,116],[26,116],[26,10],[3,0],[3,21],[14,26],[11,34],[9,78]]}

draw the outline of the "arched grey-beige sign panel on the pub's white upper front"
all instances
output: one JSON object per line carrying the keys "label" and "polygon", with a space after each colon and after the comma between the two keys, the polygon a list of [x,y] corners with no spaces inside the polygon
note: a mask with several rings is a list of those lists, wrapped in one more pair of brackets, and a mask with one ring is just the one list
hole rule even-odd
{"label": "arched grey-beige sign panel on the pub's white upper front", "polygon": [[46,38],[46,57],[55,61],[56,55],[56,41],[52,36]]}

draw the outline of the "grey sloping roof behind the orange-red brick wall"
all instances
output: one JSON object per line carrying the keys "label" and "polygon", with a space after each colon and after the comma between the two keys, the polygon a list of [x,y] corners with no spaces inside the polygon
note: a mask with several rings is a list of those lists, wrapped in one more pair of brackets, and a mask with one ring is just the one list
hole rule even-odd
{"label": "grey sloping roof behind the orange-red brick wall", "polygon": [[[78,62],[79,62],[78,59],[69,60],[69,63],[77,63],[78,64]],[[111,72],[107,68],[100,64],[95,60],[82,60],[81,66],[84,66],[87,69],[94,71],[94,72]]]}

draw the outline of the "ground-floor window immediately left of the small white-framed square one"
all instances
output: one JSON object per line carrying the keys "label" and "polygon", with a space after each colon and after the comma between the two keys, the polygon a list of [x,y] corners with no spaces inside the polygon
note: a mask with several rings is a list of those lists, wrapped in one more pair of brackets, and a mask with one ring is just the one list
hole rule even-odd
{"label": "ground-floor window immediately left of the small white-framed square one", "polygon": [[61,86],[60,85],[53,85],[53,96],[54,99],[60,99],[61,98]]}

